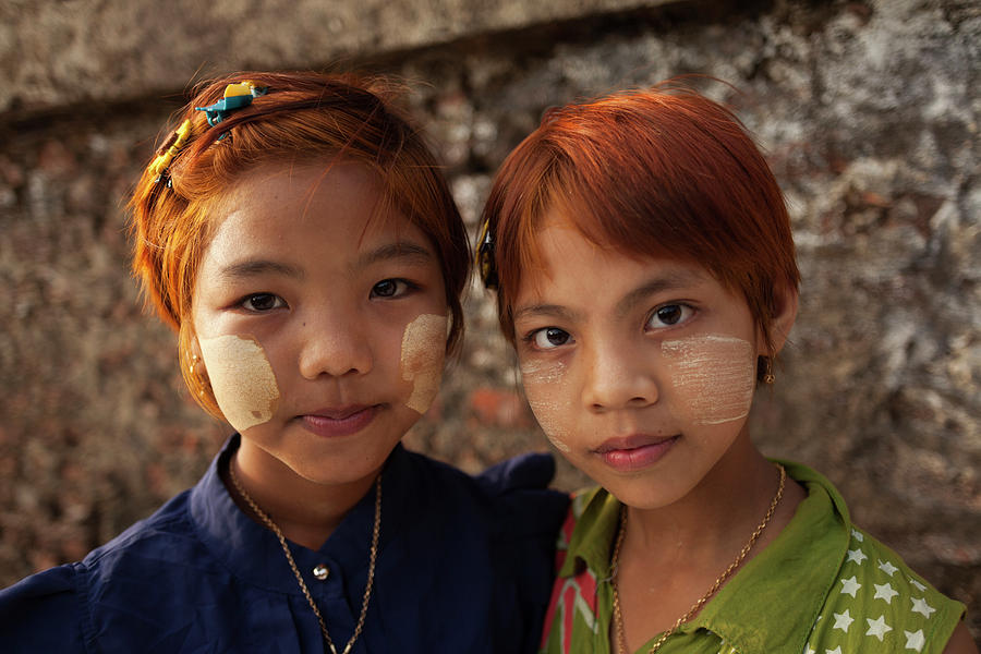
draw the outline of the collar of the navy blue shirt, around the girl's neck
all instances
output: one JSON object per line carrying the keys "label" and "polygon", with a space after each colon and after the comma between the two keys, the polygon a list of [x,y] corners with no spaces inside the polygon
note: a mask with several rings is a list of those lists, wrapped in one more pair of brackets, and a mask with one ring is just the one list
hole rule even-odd
{"label": "collar of the navy blue shirt, around the girl's neck", "polygon": [[[221,481],[220,470],[239,449],[241,436],[235,434],[215,457],[207,472],[191,492],[191,518],[201,540],[214,556],[237,577],[279,592],[299,593],[295,577],[283,556],[276,535],[253,521],[234,504]],[[397,537],[411,520],[409,494],[400,489],[411,486],[413,467],[399,444],[389,455],[382,473],[382,533],[379,549]],[[340,568],[346,576],[359,574],[368,565],[368,544],[375,519],[374,486],[344,517],[319,550],[291,543],[291,552],[301,570],[325,564]]]}

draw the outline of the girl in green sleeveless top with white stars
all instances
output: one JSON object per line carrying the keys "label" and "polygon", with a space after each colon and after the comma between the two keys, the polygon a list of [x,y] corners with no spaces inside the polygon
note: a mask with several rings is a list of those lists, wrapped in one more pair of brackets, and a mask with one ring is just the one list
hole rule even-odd
{"label": "girl in green sleeveless top with white stars", "polygon": [[542,651],[977,652],[962,604],[750,438],[799,272],[732,113],[667,85],[552,110],[483,219],[529,402],[600,484],[561,531]]}

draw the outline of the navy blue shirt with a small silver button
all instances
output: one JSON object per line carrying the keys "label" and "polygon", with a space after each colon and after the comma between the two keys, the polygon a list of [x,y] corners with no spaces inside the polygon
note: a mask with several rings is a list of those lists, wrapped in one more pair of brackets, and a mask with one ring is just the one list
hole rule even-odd
{"label": "navy blue shirt with a small silver button", "polygon": [[[326,645],[276,536],[204,477],[81,562],[0,591],[4,652],[304,652]],[[355,653],[533,652],[567,497],[547,455],[470,477],[398,446],[383,474],[375,582]],[[374,491],[324,546],[291,544],[338,650],[361,611]],[[312,570],[326,565],[317,580]]]}

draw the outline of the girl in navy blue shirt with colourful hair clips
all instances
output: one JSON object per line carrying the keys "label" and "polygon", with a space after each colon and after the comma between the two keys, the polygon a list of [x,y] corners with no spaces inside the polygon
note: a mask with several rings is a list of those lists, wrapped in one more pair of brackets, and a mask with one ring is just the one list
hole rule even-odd
{"label": "girl in navy blue shirt with colourful hair clips", "polygon": [[380,78],[203,84],[134,192],[133,268],[237,434],[198,484],[0,592],[5,652],[533,651],[567,500],[400,445],[463,330],[465,231]]}

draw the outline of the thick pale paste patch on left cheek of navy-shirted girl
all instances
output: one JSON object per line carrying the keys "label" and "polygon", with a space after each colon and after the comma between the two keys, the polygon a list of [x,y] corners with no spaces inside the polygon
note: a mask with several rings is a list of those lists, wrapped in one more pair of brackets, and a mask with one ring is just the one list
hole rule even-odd
{"label": "thick pale paste patch on left cheek of navy-shirted girl", "polygon": [[225,420],[239,432],[272,420],[279,405],[279,387],[258,341],[228,335],[198,342]]}

